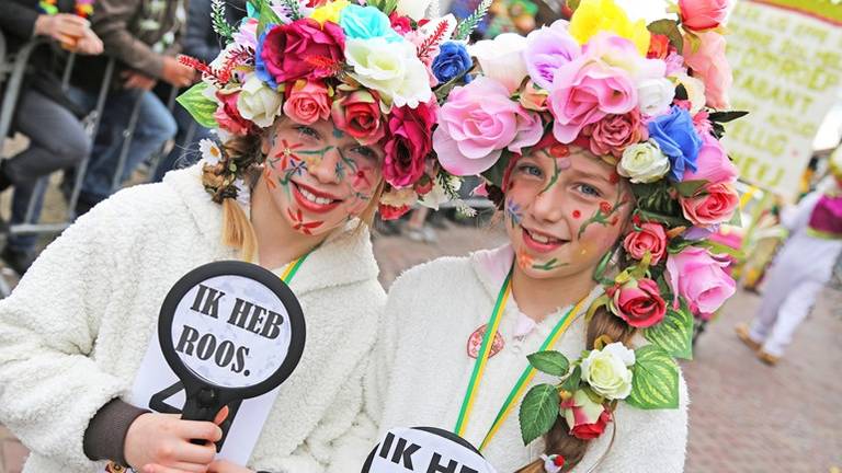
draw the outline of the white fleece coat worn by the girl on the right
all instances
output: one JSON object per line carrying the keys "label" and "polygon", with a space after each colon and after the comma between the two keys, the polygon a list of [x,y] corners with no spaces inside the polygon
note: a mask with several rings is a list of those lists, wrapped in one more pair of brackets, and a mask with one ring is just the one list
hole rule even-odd
{"label": "white fleece coat worn by the girl on the right", "polygon": [[[368,416],[380,419],[380,436],[394,427],[453,430],[475,362],[467,355],[468,337],[488,323],[512,258],[511,246],[480,251],[468,257],[445,257],[412,268],[391,286],[375,348],[376,365],[366,379]],[[594,289],[590,300],[600,293],[601,289]],[[499,328],[505,345],[488,361],[465,434],[474,446],[480,445],[526,367],[526,356],[538,351],[569,309],[549,315],[517,339],[513,331],[519,309],[510,297]],[[585,348],[584,330],[584,318],[580,316],[555,349],[570,360],[578,358]],[[533,384],[550,381],[550,377],[538,373]],[[687,438],[687,392],[683,378],[680,387],[679,409],[640,411],[621,403],[613,423],[614,445],[593,471],[681,472]],[[385,406],[383,412],[378,411],[380,405]],[[574,472],[594,466],[608,449],[611,429],[610,424],[605,434],[590,443]],[[523,446],[515,409],[482,454],[499,473],[510,473],[536,460],[543,451],[542,439]]]}

